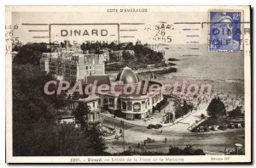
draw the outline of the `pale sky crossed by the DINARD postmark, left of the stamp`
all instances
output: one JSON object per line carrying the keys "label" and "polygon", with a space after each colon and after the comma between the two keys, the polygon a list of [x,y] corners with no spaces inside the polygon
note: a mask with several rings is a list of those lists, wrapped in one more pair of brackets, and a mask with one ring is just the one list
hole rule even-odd
{"label": "pale sky crossed by the DINARD postmark, left of the stamp", "polygon": [[136,14],[14,12],[12,14],[12,24],[19,27],[18,30],[15,30],[14,35],[19,37],[22,43],[49,42],[49,36],[51,42],[64,40],[79,43],[84,41],[118,42],[118,40],[120,42],[137,42],[139,40],[143,43],[152,44],[207,43],[207,27],[201,29],[201,24],[174,24],[175,22],[188,21],[207,21],[207,12]]}

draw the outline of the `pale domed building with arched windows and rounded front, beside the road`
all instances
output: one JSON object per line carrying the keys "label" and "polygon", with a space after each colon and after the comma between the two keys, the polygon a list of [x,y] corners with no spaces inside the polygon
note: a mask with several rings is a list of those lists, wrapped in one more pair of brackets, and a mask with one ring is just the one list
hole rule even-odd
{"label": "pale domed building with arched windows and rounded front, beside the road", "polygon": [[[156,104],[160,103],[163,96],[159,89],[150,91],[149,87],[160,83],[154,81],[139,81],[131,68],[125,67],[112,82],[110,89],[104,93],[97,92],[100,97],[100,105],[108,109],[113,115],[124,117],[127,120],[144,119],[150,116]],[[134,86],[135,91],[125,93],[125,87]],[[115,92],[111,89],[114,88]],[[127,90],[128,91],[128,90]]]}

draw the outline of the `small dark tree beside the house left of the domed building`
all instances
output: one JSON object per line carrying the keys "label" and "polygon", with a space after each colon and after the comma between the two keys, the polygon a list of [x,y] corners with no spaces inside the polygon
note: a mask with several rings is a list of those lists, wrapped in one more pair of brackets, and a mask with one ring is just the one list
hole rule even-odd
{"label": "small dark tree beside the house left of the domed building", "polygon": [[75,119],[78,121],[78,123],[81,126],[81,129],[84,129],[87,125],[87,116],[90,113],[90,108],[87,106],[84,102],[79,102],[78,107],[73,111],[73,115],[75,116]]}

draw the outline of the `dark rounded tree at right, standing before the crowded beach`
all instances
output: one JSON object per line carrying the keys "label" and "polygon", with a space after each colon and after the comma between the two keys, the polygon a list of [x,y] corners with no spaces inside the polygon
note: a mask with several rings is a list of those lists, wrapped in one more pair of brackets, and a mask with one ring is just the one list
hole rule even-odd
{"label": "dark rounded tree at right, standing before the crowded beach", "polygon": [[219,116],[226,115],[226,109],[224,103],[220,98],[213,98],[209,106],[207,107],[207,114],[217,118]]}

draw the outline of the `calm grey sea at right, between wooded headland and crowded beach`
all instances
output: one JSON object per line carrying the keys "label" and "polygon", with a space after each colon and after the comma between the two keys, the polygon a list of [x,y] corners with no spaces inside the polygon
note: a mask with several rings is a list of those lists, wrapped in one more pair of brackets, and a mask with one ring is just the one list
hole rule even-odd
{"label": "calm grey sea at right, between wooded headland and crowded beach", "polygon": [[[155,81],[211,82],[214,91],[231,95],[244,95],[243,52],[209,52],[207,44],[157,45],[155,51],[165,54],[165,59],[176,64],[177,72],[157,75]],[[148,75],[149,76],[149,75]],[[148,78],[148,76],[139,76]]]}

